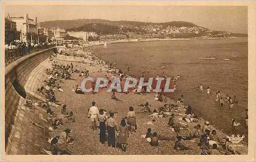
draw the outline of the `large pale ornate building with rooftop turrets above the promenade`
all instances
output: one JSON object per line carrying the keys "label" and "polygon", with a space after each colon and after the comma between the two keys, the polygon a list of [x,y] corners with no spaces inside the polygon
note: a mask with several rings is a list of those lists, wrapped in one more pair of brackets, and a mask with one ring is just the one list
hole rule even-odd
{"label": "large pale ornate building with rooftop turrets above the promenade", "polygon": [[21,41],[27,42],[29,40],[37,40],[37,17],[35,17],[35,19],[31,19],[28,14],[26,14],[24,17],[11,17],[11,20],[16,22],[17,31],[22,33],[22,36],[20,37]]}

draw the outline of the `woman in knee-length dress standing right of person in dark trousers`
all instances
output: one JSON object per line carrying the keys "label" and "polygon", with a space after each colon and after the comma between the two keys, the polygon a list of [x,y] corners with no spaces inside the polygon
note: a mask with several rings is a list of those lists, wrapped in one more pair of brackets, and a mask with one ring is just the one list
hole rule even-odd
{"label": "woman in knee-length dress standing right of person in dark trousers", "polygon": [[119,126],[119,139],[118,142],[121,144],[122,151],[126,151],[127,138],[129,137],[128,127],[126,126],[125,120],[121,120],[121,125]]}

